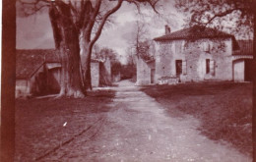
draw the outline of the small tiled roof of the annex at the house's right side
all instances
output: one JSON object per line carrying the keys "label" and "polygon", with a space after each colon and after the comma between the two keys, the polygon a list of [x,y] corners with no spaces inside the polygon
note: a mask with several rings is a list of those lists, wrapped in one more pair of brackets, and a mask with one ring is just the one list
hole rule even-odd
{"label": "small tiled roof of the annex at the house's right side", "polygon": [[253,55],[253,40],[237,40],[240,49],[234,55]]}

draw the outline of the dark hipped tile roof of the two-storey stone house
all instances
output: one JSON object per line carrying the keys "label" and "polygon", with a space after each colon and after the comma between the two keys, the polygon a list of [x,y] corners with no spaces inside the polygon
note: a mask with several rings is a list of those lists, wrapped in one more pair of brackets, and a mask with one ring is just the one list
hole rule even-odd
{"label": "dark hipped tile roof of the two-storey stone house", "polygon": [[216,37],[232,37],[232,35],[215,28],[194,26],[170,32],[160,37],[156,37],[154,40],[166,41],[177,39],[199,39]]}

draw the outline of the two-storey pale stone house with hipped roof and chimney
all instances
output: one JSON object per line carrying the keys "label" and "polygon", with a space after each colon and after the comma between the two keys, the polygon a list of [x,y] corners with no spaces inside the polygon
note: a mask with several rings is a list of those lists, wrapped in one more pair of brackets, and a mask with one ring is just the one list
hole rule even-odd
{"label": "two-storey pale stone house with hipped roof and chimney", "polygon": [[[170,32],[165,26],[165,34],[154,40],[157,44],[155,83],[248,79],[246,69],[252,53],[243,53],[243,47],[239,47],[231,34],[199,26]],[[149,76],[144,80],[150,80]]]}

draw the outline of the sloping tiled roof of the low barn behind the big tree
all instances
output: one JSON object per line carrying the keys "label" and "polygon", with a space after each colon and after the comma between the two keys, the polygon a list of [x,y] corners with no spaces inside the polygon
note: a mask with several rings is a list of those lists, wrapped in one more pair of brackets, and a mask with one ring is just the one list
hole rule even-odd
{"label": "sloping tiled roof of the low barn behind the big tree", "polygon": [[54,49],[16,50],[16,78],[30,79],[45,61],[59,62]]}

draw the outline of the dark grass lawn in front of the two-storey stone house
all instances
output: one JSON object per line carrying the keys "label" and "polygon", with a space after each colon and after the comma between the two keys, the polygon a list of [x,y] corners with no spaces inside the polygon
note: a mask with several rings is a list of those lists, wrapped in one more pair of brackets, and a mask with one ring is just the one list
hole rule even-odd
{"label": "dark grass lawn in front of the two-storey stone house", "polygon": [[203,135],[252,155],[252,83],[191,82],[144,86],[142,90],[156,98],[170,116],[192,115],[201,121]]}

